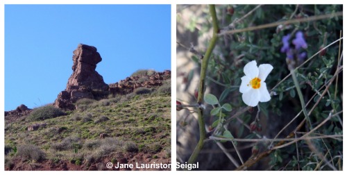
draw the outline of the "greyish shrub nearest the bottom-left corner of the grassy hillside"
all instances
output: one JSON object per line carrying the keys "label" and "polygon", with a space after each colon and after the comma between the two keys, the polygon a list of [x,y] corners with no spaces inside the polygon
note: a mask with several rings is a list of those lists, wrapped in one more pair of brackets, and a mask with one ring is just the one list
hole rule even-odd
{"label": "greyish shrub nearest the bottom-left corner of the grassy hillside", "polygon": [[44,159],[44,151],[33,144],[25,144],[18,147],[17,156],[22,156],[31,160]]}

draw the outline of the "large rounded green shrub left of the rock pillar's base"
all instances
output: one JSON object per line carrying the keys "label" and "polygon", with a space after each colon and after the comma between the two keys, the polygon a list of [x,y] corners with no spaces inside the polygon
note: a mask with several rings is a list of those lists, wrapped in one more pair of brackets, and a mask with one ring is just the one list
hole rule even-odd
{"label": "large rounded green shrub left of the rock pillar's base", "polygon": [[65,113],[62,112],[60,108],[55,108],[53,106],[42,106],[40,108],[35,108],[27,119],[29,121],[38,121],[59,117],[61,115],[65,115]]}

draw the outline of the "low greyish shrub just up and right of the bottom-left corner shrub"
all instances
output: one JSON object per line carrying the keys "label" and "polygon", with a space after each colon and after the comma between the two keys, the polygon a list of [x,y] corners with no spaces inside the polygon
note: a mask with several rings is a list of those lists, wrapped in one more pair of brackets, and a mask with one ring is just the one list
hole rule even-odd
{"label": "low greyish shrub just up and right of the bottom-left corner shrub", "polygon": [[68,149],[80,149],[82,147],[81,139],[75,136],[67,137],[62,142],[52,144],[51,148],[56,151],[63,151]]}

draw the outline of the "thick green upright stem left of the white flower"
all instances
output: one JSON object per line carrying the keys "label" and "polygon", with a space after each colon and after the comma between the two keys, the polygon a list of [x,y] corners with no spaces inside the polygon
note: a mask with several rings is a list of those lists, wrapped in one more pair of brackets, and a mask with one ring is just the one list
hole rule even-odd
{"label": "thick green upright stem left of the white flower", "polygon": [[[213,35],[212,35],[211,42],[208,46],[208,49],[206,50],[206,53],[204,54],[203,60],[201,62],[200,82],[199,82],[199,88],[198,88],[198,104],[203,103],[203,94],[205,90],[205,78],[206,78],[206,71],[208,69],[208,60],[210,59],[214,46],[216,45],[216,42],[218,40],[219,28],[217,24],[216,8],[214,7],[214,5],[210,5],[210,15],[212,16]],[[200,153],[201,149],[203,149],[203,144],[206,137],[205,121],[203,119],[203,108],[198,108],[198,126],[199,126],[200,138],[198,140],[198,144],[196,145],[192,155],[190,156],[188,160],[188,164],[195,163],[196,158],[198,158],[198,153]]]}

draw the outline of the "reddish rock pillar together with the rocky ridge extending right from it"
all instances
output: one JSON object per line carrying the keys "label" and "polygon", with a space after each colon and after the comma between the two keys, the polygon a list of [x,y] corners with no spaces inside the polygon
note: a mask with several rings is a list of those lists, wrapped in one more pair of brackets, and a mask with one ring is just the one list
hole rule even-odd
{"label": "reddish rock pillar together with the rocky ridge extending right from it", "polygon": [[103,99],[109,94],[128,94],[136,88],[153,88],[162,85],[163,81],[171,78],[171,71],[154,72],[151,75],[130,76],[125,80],[107,85],[103,77],[95,71],[96,64],[101,62],[101,56],[95,47],[78,44],[72,56],[74,71],[65,90],[58,94],[54,106],[63,110],[74,110],[78,99]]}

